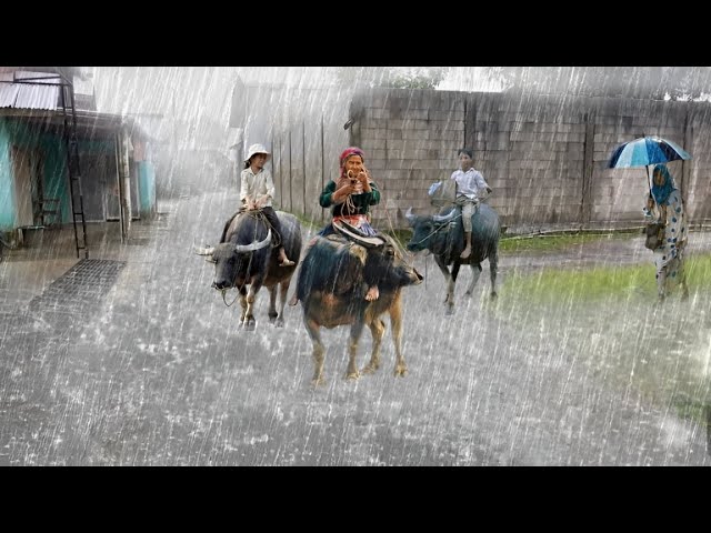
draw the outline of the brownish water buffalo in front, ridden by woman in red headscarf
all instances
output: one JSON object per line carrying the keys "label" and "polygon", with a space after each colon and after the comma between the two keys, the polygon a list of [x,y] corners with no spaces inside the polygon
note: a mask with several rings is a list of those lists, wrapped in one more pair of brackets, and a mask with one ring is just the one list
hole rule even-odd
{"label": "brownish water buffalo in front, ridden by woman in red headscarf", "polygon": [[[385,312],[390,314],[395,349],[394,375],[404,376],[408,370],[400,349],[401,289],[421,283],[422,276],[404,262],[397,243],[390,237],[348,235],[348,239],[339,235],[317,237],[299,270],[297,298],[303,308],[303,323],[313,342],[313,385],[326,383],[326,349],[321,342],[320,328],[351,324],[346,378],[354,380],[360,376],[356,355],[365,325],[370,328],[373,344],[370,362],[362,372],[372,373],[380,368],[380,344],[385,332],[385,324],[380,315]],[[378,285],[379,298],[367,301],[365,293],[373,284]]]}

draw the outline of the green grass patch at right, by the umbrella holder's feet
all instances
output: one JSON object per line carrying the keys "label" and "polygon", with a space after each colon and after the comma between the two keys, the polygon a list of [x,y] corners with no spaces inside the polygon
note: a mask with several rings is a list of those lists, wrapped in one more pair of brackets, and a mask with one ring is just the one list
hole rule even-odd
{"label": "green grass patch at right, by the umbrella holder's feet", "polygon": [[[711,389],[705,301],[711,254],[687,257],[691,296],[677,290],[657,306],[654,265],[548,268],[503,280],[500,316],[533,332],[551,349],[574,354],[600,383],[635,391],[644,402],[708,425]],[[708,430],[711,431],[711,430]]]}

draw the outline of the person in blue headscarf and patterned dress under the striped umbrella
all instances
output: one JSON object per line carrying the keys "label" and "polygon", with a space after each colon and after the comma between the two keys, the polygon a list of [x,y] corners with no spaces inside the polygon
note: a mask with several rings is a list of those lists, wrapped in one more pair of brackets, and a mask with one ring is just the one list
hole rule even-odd
{"label": "person in blue headscarf and patterned dress under the striped umbrella", "polygon": [[647,210],[652,217],[657,210],[658,221],[663,225],[663,239],[652,250],[657,266],[657,290],[659,301],[663,301],[669,290],[675,285],[682,289],[682,299],[689,298],[684,274],[684,248],[687,244],[687,220],[681,192],[663,163],[654,165],[652,189],[648,197]]}

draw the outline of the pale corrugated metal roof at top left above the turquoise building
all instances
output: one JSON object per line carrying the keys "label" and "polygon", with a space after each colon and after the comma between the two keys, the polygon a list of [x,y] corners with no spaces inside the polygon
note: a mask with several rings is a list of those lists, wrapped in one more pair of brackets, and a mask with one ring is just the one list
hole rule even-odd
{"label": "pale corrugated metal roof at top left above the turquoise building", "polygon": [[[14,78],[13,78],[14,76]],[[10,77],[8,79],[8,77]],[[43,109],[54,111],[59,98],[59,87],[44,86],[43,83],[57,83],[59,79],[47,72],[16,71],[0,74],[4,81],[27,80],[29,83],[0,83],[0,108],[14,109]],[[36,78],[46,78],[39,80]]]}

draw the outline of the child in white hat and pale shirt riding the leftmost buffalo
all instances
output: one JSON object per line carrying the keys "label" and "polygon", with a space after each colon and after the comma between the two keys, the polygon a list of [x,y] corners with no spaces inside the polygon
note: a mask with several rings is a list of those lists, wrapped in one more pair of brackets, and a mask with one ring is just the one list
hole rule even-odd
{"label": "child in white hat and pale shirt riding the leftmost buffalo", "polygon": [[[252,144],[247,151],[244,170],[240,174],[241,188],[240,200],[247,210],[261,209],[264,217],[271,224],[279,242],[281,239],[281,223],[271,205],[274,198],[274,180],[271,172],[264,169],[264,163],[269,159],[269,152],[263,144]],[[279,265],[293,266],[294,262],[287,258],[284,247],[279,245]]]}

